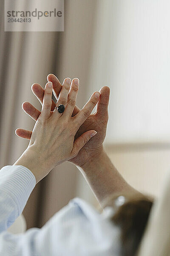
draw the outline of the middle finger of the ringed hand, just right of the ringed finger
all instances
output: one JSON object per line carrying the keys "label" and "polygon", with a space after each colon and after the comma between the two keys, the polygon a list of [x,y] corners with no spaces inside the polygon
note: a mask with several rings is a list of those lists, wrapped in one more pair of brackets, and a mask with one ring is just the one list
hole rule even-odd
{"label": "middle finger of the ringed hand, just right of the ringed finger", "polygon": [[71,82],[70,91],[68,94],[68,102],[65,108],[64,115],[71,116],[76,105],[77,93],[79,91],[79,79],[74,78]]}

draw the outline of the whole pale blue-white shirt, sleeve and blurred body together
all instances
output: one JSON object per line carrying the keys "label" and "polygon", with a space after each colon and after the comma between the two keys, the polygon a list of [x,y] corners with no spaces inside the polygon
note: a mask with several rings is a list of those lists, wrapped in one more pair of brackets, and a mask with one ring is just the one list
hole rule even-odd
{"label": "whole pale blue-white shirt, sleeve and blurred body together", "polygon": [[75,198],[42,228],[11,234],[8,227],[22,213],[36,184],[23,166],[0,170],[0,256],[118,256],[119,228],[110,221],[112,208],[100,214]]}

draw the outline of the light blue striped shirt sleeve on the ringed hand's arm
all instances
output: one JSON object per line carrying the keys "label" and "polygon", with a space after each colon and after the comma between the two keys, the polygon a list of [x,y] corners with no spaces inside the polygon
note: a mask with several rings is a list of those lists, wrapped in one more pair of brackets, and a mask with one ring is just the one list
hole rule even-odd
{"label": "light blue striped shirt sleeve on the ringed hand's arm", "polygon": [[4,166],[0,170],[0,232],[22,213],[35,185],[33,173],[24,166]]}

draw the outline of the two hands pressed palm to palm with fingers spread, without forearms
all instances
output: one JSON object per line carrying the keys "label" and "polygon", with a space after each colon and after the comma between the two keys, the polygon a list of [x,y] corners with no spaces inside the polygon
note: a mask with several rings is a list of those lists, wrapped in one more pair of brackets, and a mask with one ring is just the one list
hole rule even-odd
{"label": "two hands pressed palm to palm with fingers spread, without forearms", "polygon": [[[49,74],[47,80],[45,89],[40,84],[31,87],[42,104],[41,112],[29,102],[22,105],[23,110],[36,121],[33,131],[15,131],[19,137],[30,140],[15,165],[30,169],[36,182],[64,161],[82,167],[94,158],[102,157],[108,122],[109,87],[104,86],[93,93],[80,110],[76,106],[79,79],[71,81],[66,78],[61,85],[56,76]],[[52,92],[57,104],[51,99]],[[63,113],[55,108],[59,105],[65,105]],[[95,106],[96,113],[91,114]]]}

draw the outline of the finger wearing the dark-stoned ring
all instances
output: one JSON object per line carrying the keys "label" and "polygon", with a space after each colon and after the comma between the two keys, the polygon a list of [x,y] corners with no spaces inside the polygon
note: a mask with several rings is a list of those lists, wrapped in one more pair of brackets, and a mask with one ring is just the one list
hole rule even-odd
{"label": "finger wearing the dark-stoned ring", "polygon": [[[70,90],[70,83],[71,83],[71,79],[69,77],[64,79],[61,91],[59,93],[59,98],[56,104],[56,108],[59,105],[64,105],[64,106],[66,105],[68,101],[68,92]],[[54,109],[54,112],[59,113],[56,108]]]}

